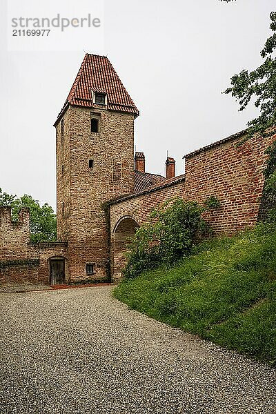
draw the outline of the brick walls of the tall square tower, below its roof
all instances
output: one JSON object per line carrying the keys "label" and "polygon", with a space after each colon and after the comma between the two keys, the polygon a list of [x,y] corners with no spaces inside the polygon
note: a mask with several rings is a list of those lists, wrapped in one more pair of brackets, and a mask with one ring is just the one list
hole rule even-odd
{"label": "brick walls of the tall square tower, below its roof", "polygon": [[[99,132],[90,130],[92,114],[100,119]],[[68,272],[75,280],[106,279],[110,235],[103,204],[133,192],[134,115],[102,106],[93,110],[70,106],[65,115],[68,129],[64,130],[63,146],[59,124],[57,227],[58,234],[68,241]],[[90,159],[93,168],[89,168]],[[86,275],[86,264],[95,264],[95,275]]]}

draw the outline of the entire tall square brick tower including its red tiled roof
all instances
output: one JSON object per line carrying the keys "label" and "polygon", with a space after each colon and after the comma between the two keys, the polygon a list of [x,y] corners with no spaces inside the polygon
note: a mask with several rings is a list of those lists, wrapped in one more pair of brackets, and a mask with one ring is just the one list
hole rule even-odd
{"label": "entire tall square brick tower including its red tiled roof", "polygon": [[139,112],[107,57],[86,55],[55,122],[57,233],[67,279],[108,280],[108,201],[134,190]]}

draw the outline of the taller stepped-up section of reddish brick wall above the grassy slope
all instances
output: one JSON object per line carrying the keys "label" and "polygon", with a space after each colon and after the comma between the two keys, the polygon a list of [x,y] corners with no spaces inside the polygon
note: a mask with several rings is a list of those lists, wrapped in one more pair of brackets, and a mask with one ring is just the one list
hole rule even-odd
{"label": "taller stepped-up section of reddish brick wall above the grassy slope", "polygon": [[210,195],[220,208],[205,215],[216,234],[232,235],[255,225],[264,186],[266,148],[273,140],[243,136],[195,152],[186,158],[184,198],[202,203]]}

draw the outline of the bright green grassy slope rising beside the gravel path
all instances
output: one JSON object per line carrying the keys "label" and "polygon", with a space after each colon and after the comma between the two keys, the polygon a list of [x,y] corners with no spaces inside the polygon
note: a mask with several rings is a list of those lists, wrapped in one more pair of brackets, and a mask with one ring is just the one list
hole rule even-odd
{"label": "bright green grassy slope rising beside the gravel path", "polygon": [[276,228],[201,243],[170,269],[124,280],[130,308],[276,366]]}

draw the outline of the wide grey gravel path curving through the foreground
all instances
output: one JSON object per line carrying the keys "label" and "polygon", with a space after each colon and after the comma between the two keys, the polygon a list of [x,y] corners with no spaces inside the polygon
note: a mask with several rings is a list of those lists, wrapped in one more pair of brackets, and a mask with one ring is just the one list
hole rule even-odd
{"label": "wide grey gravel path curving through the foreground", "polygon": [[1,414],[276,413],[275,371],[111,291],[1,293]]}

